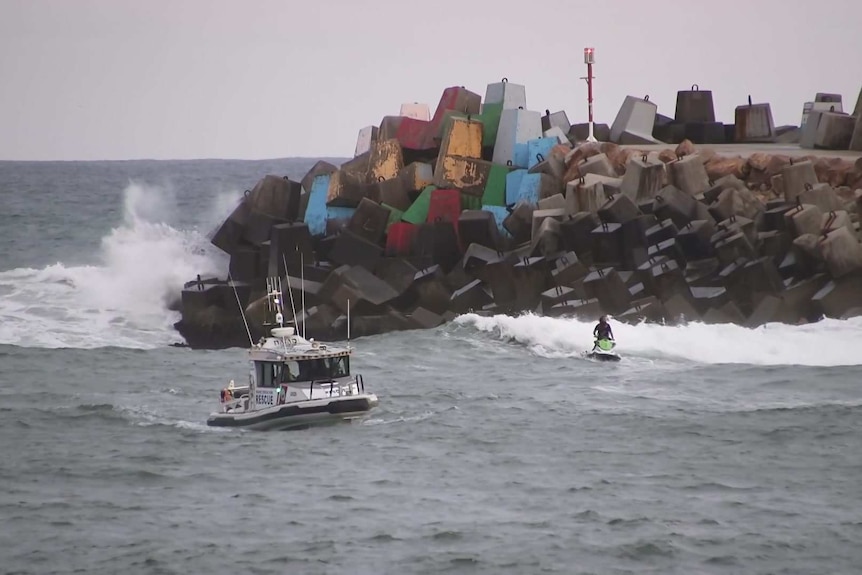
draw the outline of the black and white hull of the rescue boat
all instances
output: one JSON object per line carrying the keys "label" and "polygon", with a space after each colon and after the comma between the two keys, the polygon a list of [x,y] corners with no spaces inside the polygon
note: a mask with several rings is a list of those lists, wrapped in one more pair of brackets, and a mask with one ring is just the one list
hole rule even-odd
{"label": "black and white hull of the rescue boat", "polygon": [[353,397],[286,403],[256,411],[213,413],[207,419],[207,425],[261,431],[295,429],[355,419],[366,415],[376,406],[377,396],[367,393]]}

